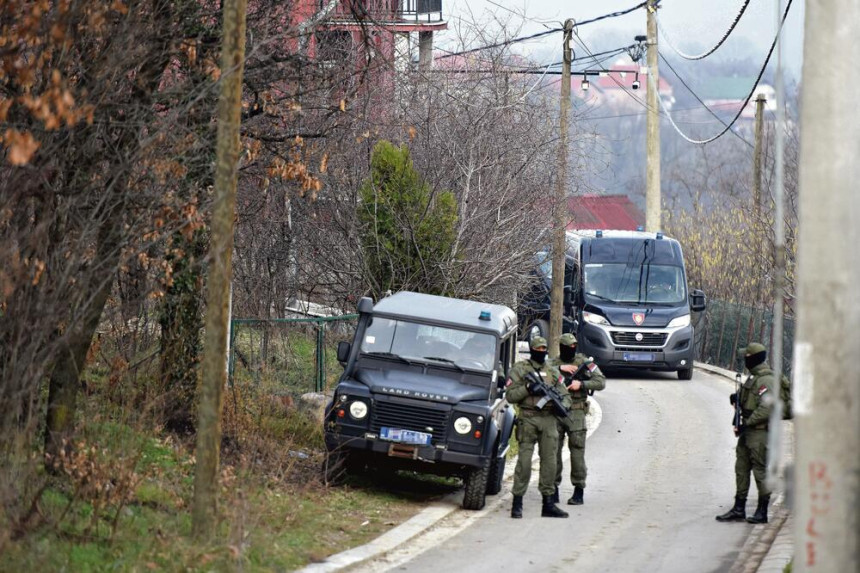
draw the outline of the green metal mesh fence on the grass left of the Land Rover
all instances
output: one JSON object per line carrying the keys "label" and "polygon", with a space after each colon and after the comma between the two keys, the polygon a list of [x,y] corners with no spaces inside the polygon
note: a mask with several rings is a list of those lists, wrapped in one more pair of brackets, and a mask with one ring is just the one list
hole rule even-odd
{"label": "green metal mesh fence on the grass left of the Land Rover", "polygon": [[337,344],[352,340],[357,318],[233,319],[227,362],[231,386],[253,384],[292,397],[325,392],[342,372]]}

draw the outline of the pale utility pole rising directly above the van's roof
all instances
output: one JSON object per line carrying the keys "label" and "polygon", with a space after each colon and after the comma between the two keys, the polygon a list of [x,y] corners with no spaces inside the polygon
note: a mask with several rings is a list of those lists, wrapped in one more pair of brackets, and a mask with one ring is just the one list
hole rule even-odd
{"label": "pale utility pole rising directly above the van's roof", "polygon": [[645,230],[659,231],[660,223],[660,72],[657,69],[657,2],[648,0],[648,105],[646,122],[647,166],[645,167]]}

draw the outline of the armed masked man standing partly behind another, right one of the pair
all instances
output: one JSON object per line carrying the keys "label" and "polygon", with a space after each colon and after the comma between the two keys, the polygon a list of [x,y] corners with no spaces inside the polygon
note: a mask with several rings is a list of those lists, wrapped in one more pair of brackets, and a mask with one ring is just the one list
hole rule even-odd
{"label": "armed masked man standing partly behind another, right one of the pair", "polygon": [[[573,495],[567,500],[568,505],[582,505],[585,493],[585,477],[588,468],[585,465],[585,415],[588,413],[588,396],[596,390],[606,388],[606,376],[591,358],[576,351],[576,337],[571,333],[562,334],[558,341],[558,358],[550,364],[555,366],[565,378],[567,390],[571,398],[570,415],[566,420],[558,422],[558,450],[555,468],[554,501],[558,502],[558,487],[561,485],[563,473],[561,453],[564,450],[564,438],[567,436],[570,448],[570,482],[573,484]],[[579,367],[587,364],[581,375],[574,380],[572,376]]]}

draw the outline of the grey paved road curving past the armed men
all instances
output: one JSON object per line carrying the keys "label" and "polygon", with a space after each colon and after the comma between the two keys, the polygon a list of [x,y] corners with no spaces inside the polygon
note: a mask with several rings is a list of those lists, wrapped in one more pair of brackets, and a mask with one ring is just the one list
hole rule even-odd
{"label": "grey paved road curving past the armed men", "polygon": [[714,520],[734,494],[731,390],[698,370],[688,382],[612,377],[597,394],[603,417],[588,439],[586,505],[565,506],[570,519],[541,518],[534,483],[524,519],[511,519],[508,484],[484,511],[454,512],[358,570],[727,571],[753,527]]}

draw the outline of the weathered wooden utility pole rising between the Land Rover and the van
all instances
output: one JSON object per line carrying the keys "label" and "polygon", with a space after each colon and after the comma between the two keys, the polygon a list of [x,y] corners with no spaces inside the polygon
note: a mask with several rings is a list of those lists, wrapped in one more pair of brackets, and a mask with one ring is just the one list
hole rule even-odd
{"label": "weathered wooden utility pole rising between the Land Rover and the van", "polygon": [[570,43],[573,20],[564,22],[561,68],[561,137],[558,149],[558,180],[555,193],[555,230],[552,245],[552,289],[549,307],[549,355],[558,356],[561,315],[564,312],[564,266],[567,253],[567,116],[570,108]]}

